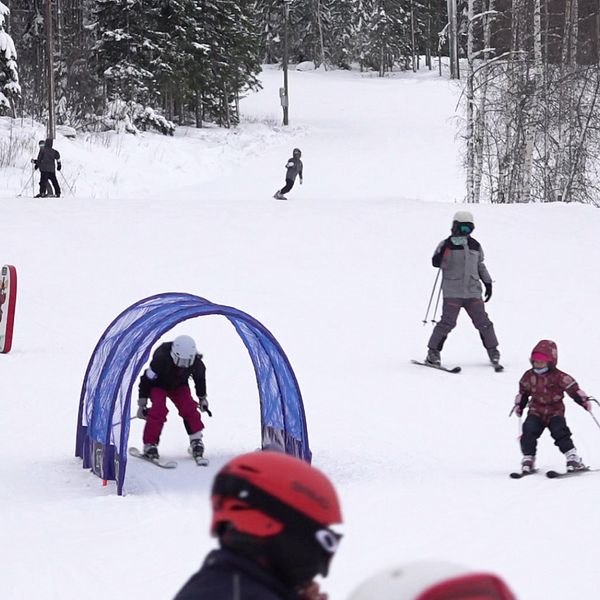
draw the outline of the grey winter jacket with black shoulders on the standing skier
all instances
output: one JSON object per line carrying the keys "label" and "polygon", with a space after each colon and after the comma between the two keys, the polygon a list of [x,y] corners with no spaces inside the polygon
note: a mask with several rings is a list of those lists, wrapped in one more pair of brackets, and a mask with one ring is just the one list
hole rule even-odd
{"label": "grey winter jacket with black shoulders on the standing skier", "polygon": [[438,244],[431,262],[442,269],[444,298],[481,298],[480,280],[492,283],[483,262],[483,248],[470,236],[465,246],[446,238]]}

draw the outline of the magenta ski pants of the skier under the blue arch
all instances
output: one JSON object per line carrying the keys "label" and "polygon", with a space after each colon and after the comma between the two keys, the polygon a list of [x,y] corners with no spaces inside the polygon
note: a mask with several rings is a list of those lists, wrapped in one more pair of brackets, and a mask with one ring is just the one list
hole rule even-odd
{"label": "magenta ski pants of the skier under the blue arch", "polygon": [[187,385],[170,391],[155,387],[150,391],[152,406],[146,416],[143,435],[144,444],[158,444],[163,425],[169,414],[167,398],[170,398],[177,407],[179,416],[185,421],[188,433],[198,433],[198,431],[204,429],[204,424],[198,412],[198,405],[194,402],[190,388]]}

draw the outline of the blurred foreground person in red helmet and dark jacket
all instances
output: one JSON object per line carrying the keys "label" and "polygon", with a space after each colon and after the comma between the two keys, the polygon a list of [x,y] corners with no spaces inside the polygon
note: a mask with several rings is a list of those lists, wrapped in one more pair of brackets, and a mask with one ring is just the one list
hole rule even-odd
{"label": "blurred foreground person in red helmet and dark jacket", "polygon": [[211,534],[219,540],[175,600],[327,600],[342,522],[331,481],[302,460],[259,451],[230,460],[213,481]]}

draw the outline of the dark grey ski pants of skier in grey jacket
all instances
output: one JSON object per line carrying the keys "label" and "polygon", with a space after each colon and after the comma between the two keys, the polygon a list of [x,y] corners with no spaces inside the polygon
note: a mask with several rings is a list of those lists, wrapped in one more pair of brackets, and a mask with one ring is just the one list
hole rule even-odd
{"label": "dark grey ski pants of skier in grey jacket", "polygon": [[444,298],[442,318],[433,328],[427,346],[438,351],[443,348],[448,334],[456,327],[461,308],[464,308],[471,317],[473,325],[479,331],[483,345],[487,349],[495,348],[498,345],[498,338],[496,338],[494,324],[490,321],[481,298]]}

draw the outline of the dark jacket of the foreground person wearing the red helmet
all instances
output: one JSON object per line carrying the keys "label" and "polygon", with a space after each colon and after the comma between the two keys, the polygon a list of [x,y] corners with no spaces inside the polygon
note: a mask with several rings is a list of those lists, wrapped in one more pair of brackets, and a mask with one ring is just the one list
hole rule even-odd
{"label": "dark jacket of the foreground person wearing the red helmet", "polygon": [[174,600],[297,600],[298,593],[256,562],[231,550],[213,550]]}

